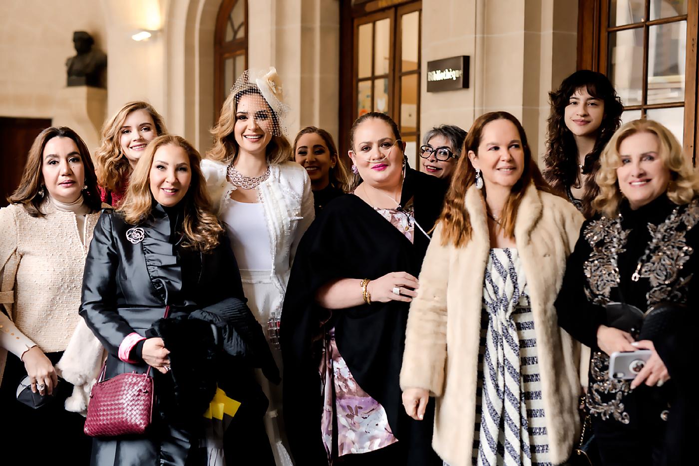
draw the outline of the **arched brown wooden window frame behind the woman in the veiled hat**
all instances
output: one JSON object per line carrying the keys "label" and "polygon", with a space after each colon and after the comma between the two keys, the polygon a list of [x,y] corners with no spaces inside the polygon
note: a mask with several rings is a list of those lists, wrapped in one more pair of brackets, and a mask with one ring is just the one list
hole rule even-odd
{"label": "arched brown wooden window frame behind the woman in the veiled hat", "polygon": [[[233,8],[238,1],[243,2],[243,24],[245,24],[245,36],[226,42],[226,25]],[[247,70],[247,0],[223,0],[216,15],[216,27],[214,31],[214,122],[218,122],[221,108],[226,100],[227,92],[224,89],[226,59],[243,55],[245,57],[244,69]],[[234,76],[233,79],[238,78]]]}

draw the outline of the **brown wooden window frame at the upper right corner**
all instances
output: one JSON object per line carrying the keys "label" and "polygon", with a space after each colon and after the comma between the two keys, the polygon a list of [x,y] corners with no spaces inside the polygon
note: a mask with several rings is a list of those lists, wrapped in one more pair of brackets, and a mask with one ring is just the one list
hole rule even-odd
{"label": "brown wooden window frame at the upper right corner", "polygon": [[[609,6],[610,0],[578,0],[578,27],[577,27],[577,69],[591,69],[607,75],[607,38],[610,32],[623,31],[626,29],[640,29],[639,24],[625,24],[623,26],[609,27]],[[646,3],[645,15],[648,13],[649,0]],[[645,110],[654,108],[677,108],[682,106],[676,103],[654,103],[648,104],[648,31],[649,27],[675,22],[679,19],[686,19],[686,56],[684,70],[684,134],[683,149],[687,156],[691,157],[692,163],[696,165],[696,150],[699,146],[699,131],[697,126],[699,109],[699,89],[698,89],[698,22],[699,22],[699,0],[687,0],[687,13],[675,17],[661,18],[643,23],[644,55],[642,75],[642,104],[628,105],[624,110]]]}

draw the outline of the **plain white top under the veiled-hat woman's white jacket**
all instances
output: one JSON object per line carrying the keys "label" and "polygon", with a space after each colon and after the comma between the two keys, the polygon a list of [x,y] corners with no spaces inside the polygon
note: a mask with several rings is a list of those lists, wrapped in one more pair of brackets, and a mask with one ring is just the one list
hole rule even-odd
{"label": "plain white top under the veiled-hat woman's white jacket", "polygon": [[261,203],[243,203],[234,199],[222,207],[221,220],[240,270],[272,270],[272,252],[267,222]]}

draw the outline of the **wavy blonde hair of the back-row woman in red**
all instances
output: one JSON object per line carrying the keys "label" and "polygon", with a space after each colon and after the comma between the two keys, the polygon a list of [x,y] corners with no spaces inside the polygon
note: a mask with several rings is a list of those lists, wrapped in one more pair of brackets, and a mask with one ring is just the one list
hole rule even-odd
{"label": "wavy blonde hair of the back-row woman in red", "polygon": [[168,133],[163,117],[150,103],[143,101],[129,102],[108,119],[102,126],[102,141],[94,152],[94,169],[98,184],[108,191],[121,191],[131,170],[129,160],[122,152],[121,128],[127,117],[135,110],[150,113],[155,125],[156,136]]}

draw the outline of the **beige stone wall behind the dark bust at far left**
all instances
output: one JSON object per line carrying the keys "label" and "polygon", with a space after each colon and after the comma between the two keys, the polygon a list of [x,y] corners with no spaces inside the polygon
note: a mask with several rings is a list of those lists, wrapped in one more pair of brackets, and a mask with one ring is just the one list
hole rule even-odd
{"label": "beige stone wall behind the dark bust at far left", "polygon": [[[94,0],[3,0],[0,15],[0,116],[50,118],[72,126],[94,149],[105,93],[66,89],[73,31],[87,31],[107,52],[102,5]],[[111,59],[109,57],[108,59]]]}

